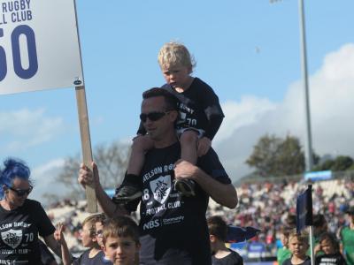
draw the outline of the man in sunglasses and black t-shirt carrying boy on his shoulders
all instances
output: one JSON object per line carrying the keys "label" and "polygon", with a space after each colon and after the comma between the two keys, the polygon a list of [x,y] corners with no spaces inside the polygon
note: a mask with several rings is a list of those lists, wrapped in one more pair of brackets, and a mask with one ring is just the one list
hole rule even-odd
{"label": "man in sunglasses and black t-shirt carrying boy on his shoulders", "polygon": [[[181,157],[181,145],[174,131],[178,116],[176,100],[162,88],[143,93],[142,123],[154,148],[145,155],[140,178],[140,235],[142,264],[211,264],[211,251],[205,212],[209,196],[227,208],[237,205],[237,193],[231,185],[218,156],[209,149],[196,165]],[[97,201],[107,216],[121,216],[135,210],[135,205],[115,204],[94,174],[81,164],[79,182],[92,185]],[[196,182],[194,197],[182,196],[173,189],[174,178],[191,178]],[[128,207],[129,206],[129,207]]]}

